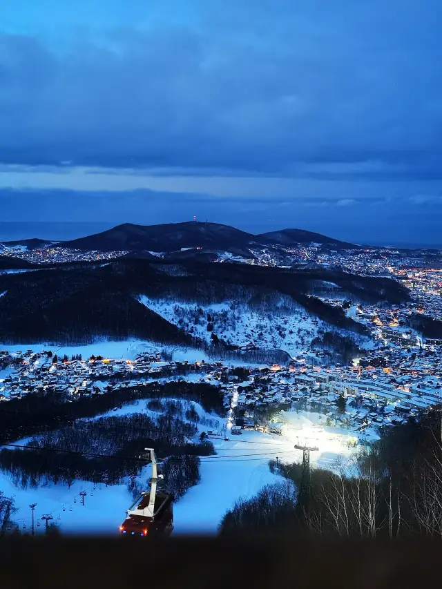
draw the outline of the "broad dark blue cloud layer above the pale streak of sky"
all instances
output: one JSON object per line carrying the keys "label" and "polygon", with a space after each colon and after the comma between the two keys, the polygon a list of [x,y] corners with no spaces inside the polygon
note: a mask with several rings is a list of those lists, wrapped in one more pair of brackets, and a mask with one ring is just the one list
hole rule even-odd
{"label": "broad dark blue cloud layer above the pale streak of sky", "polygon": [[6,10],[0,162],[441,177],[439,0],[38,4]]}

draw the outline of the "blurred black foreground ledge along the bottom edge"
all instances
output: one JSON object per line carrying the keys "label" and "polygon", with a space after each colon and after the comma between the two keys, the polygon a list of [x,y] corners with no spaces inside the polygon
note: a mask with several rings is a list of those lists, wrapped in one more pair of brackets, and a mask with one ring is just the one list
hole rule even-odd
{"label": "blurred black foreground ledge along the bottom edge", "polygon": [[[390,588],[439,581],[441,540],[17,537],[0,542],[2,589]],[[439,583],[438,583],[439,584]]]}

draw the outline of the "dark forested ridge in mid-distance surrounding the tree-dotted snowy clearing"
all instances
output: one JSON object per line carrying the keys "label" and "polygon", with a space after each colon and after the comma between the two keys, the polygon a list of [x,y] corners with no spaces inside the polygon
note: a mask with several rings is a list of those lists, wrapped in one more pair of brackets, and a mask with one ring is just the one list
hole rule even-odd
{"label": "dark forested ridge in mid-distance surrounding the tree-dotted snowy clearing", "polygon": [[[312,294],[318,282],[325,286],[333,283],[335,292],[338,290],[341,296],[352,300],[398,302],[407,297],[407,291],[392,280],[338,272],[291,271],[247,264],[165,264],[142,259],[77,263],[0,276],[0,337],[3,343],[68,344],[91,342],[97,336],[132,336],[154,342],[202,345],[206,338],[198,330],[191,333],[183,329],[179,320],[156,312],[159,309],[153,303],[151,307],[142,304],[140,296],[177,305],[243,305],[261,315],[269,312],[269,301],[282,300],[283,307],[296,308],[301,317],[365,334],[365,328],[345,316],[343,309],[327,305]],[[276,307],[274,311],[278,313]],[[220,334],[215,336],[222,339]],[[278,347],[278,342],[270,342],[270,347]]]}

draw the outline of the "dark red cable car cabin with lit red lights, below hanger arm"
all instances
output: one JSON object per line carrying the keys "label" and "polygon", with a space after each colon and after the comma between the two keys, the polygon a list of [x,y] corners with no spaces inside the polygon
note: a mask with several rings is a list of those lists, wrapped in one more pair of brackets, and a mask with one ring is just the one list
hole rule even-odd
{"label": "dark red cable car cabin with lit red lights, below hanger arm", "polygon": [[[119,526],[122,534],[143,537],[169,536],[173,530],[173,496],[161,491],[155,495],[153,515],[149,511],[150,493],[142,493],[127,511]],[[135,505],[137,508],[134,510]]]}

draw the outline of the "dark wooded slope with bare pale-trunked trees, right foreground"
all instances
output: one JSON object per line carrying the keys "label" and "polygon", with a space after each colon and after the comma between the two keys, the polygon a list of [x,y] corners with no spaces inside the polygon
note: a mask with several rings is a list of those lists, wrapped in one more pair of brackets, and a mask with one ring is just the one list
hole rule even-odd
{"label": "dark wooded slope with bare pale-trunked trees, right foreground", "polygon": [[373,447],[334,472],[270,462],[285,481],[240,500],[222,534],[309,539],[407,538],[442,534],[441,410],[389,428]]}

